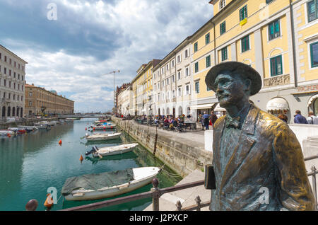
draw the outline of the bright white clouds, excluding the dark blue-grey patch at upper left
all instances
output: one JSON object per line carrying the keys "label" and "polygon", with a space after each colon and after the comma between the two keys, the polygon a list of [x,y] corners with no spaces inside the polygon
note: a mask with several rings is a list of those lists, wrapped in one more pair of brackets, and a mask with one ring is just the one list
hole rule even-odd
{"label": "bright white clouds, excluding the dark blue-grey patch at upper left", "polygon": [[[105,52],[110,50],[107,52],[110,57],[100,60],[91,52],[72,54],[63,47],[49,52],[35,40],[1,41],[29,63],[28,83],[71,93],[67,97],[76,101],[76,110],[86,110],[88,105],[92,110],[110,110],[112,91],[104,91],[102,87],[113,89],[112,75],[105,78],[100,75],[119,69],[117,85],[131,81],[141,64],[165,57],[213,13],[204,0],[57,0],[55,3],[58,22],[67,28],[70,38],[84,33],[86,45],[97,50],[105,48]],[[112,40],[117,46],[101,47],[100,42],[90,40],[91,34],[99,40]]]}

